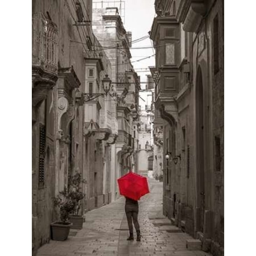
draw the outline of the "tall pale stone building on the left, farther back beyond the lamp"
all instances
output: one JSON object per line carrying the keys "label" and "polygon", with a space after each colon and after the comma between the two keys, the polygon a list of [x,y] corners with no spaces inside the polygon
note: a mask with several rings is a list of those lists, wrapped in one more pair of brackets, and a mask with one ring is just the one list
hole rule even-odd
{"label": "tall pale stone building on the left, farther back beyond the lamp", "polygon": [[131,33],[126,32],[115,3],[113,6],[109,4],[111,5],[109,2],[93,3],[93,32],[111,62],[109,77],[114,90],[113,97],[116,99],[112,107],[116,113],[113,119],[118,127],[118,137],[111,147],[111,176],[115,177],[111,179],[111,192],[112,200],[115,200],[119,197],[116,180],[136,166],[137,138],[133,137],[132,131],[138,122],[136,94],[140,84],[130,63]]}

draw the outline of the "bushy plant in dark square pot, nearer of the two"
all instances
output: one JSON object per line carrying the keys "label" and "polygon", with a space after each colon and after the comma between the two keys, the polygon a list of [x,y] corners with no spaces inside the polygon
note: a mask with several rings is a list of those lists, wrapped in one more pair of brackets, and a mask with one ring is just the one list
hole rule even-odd
{"label": "bushy plant in dark square pot, nearer of the two", "polygon": [[59,192],[58,197],[54,198],[54,205],[59,208],[59,221],[51,223],[52,240],[64,241],[69,236],[72,223],[69,221],[69,214],[74,211],[74,202],[67,192],[67,188]]}

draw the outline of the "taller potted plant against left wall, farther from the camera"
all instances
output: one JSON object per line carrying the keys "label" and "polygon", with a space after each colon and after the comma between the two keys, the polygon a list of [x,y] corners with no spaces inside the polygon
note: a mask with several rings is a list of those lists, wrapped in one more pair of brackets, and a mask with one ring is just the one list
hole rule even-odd
{"label": "taller potted plant against left wall, farther from the camera", "polygon": [[83,183],[85,183],[85,180],[82,179],[81,173],[77,172],[69,177],[69,198],[74,202],[74,208],[69,215],[69,220],[73,223],[72,228],[74,229],[83,228],[84,218],[82,215],[79,215],[81,200],[85,197],[85,193],[82,191]]}

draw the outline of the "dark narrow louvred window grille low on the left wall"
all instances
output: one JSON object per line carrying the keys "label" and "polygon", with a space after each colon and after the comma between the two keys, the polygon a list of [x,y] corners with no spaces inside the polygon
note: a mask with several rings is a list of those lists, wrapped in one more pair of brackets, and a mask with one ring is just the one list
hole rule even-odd
{"label": "dark narrow louvred window grille low on the left wall", "polygon": [[44,182],[44,158],[45,158],[45,126],[40,123],[40,135],[39,135],[39,183]]}

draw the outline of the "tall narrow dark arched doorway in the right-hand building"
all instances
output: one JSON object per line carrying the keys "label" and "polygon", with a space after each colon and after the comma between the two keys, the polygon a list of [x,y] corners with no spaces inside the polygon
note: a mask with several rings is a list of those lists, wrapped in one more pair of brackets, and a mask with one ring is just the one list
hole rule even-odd
{"label": "tall narrow dark arched doorway in the right-hand building", "polygon": [[197,220],[196,231],[204,230],[204,211],[205,211],[205,174],[204,174],[204,96],[202,70],[199,66],[197,69],[196,87],[195,87],[195,104],[196,104],[196,208]]}

